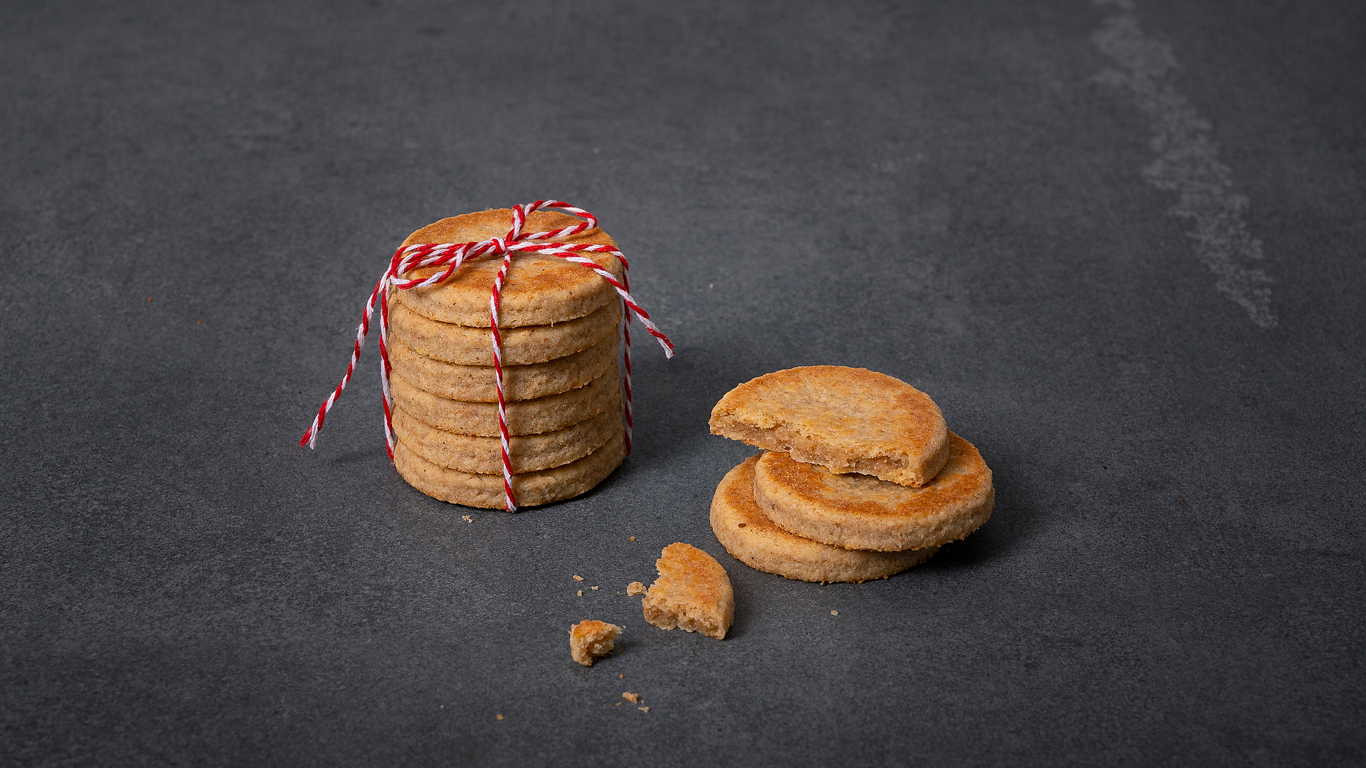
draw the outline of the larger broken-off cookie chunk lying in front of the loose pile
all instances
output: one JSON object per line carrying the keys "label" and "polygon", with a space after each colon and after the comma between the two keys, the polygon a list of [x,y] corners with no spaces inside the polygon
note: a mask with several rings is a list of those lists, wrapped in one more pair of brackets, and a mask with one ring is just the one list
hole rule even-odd
{"label": "larger broken-off cookie chunk lying in front of the loose pile", "polygon": [[660,578],[645,593],[641,605],[645,620],[671,630],[682,627],[717,640],[735,622],[735,592],[725,568],[706,552],[683,544],[669,544],[654,562]]}

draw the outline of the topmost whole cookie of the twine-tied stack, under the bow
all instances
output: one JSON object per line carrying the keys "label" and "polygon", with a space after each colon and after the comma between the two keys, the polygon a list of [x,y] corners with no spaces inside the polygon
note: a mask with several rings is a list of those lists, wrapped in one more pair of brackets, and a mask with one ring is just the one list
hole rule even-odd
{"label": "topmost whole cookie of the twine-tied stack, under the bow", "polygon": [[[582,220],[566,213],[537,210],[526,217],[523,232],[548,232],[581,224]],[[443,219],[428,224],[403,241],[404,246],[419,243],[470,243],[507,236],[512,225],[512,209],[499,208]],[[605,245],[616,242],[602,230],[593,228],[572,238],[542,241],[546,243]],[[609,253],[583,253],[600,266],[622,280],[622,262]],[[425,288],[393,291],[403,303],[418,314],[441,323],[455,323],[475,328],[489,327],[489,292],[493,279],[503,265],[501,256],[482,256],[460,265],[444,283]],[[445,269],[428,266],[404,275],[425,279]],[[556,256],[518,253],[503,283],[499,301],[499,327],[549,325],[583,317],[617,297],[616,288],[582,264],[564,261]]]}

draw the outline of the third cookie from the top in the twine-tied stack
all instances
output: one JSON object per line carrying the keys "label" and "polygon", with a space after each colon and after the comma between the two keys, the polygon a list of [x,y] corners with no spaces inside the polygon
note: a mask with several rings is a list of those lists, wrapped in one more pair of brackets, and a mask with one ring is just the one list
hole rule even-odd
{"label": "third cookie from the top in the twine-tied stack", "polygon": [[[597,344],[568,357],[533,365],[503,368],[503,394],[508,400],[534,400],[576,389],[607,372],[616,362],[617,335],[608,333]],[[499,402],[492,365],[441,362],[408,348],[389,344],[389,365],[403,379],[428,392],[473,403]]]}

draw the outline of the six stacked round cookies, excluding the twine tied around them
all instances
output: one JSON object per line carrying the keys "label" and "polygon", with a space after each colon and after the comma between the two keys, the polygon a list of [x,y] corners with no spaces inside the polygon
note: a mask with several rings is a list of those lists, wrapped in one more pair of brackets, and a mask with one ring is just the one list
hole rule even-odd
{"label": "six stacked round cookies, excluding the twine tied around them", "polygon": [[[511,221],[510,209],[467,213],[423,227],[403,245],[478,242],[505,235]],[[523,231],[578,223],[538,210]],[[545,242],[616,247],[597,228]],[[615,256],[586,256],[622,277]],[[393,463],[418,491],[470,507],[505,504],[489,329],[489,295],[500,265],[501,256],[475,258],[436,286],[393,290],[389,301]],[[622,301],[591,269],[553,256],[522,253],[512,260],[499,332],[519,506],[578,496],[622,463],[620,324]]]}

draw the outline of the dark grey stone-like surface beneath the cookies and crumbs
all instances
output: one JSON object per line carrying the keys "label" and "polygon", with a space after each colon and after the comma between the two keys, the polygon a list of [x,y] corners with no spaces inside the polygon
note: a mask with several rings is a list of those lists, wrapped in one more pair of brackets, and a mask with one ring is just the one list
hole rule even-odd
{"label": "dark grey stone-like surface beneath the cookies and crumbs", "polygon": [[[1366,758],[1359,3],[10,3],[0,30],[0,761]],[[1205,219],[1171,213],[1191,190]],[[395,245],[540,197],[601,217],[679,346],[637,347],[627,463],[466,523],[385,459],[373,348],[298,448]],[[992,521],[865,585],[731,559],[706,510],[750,450],[706,414],[809,364],[934,396]],[[724,642],[616,594],[672,541],[729,570]],[[591,668],[586,616],[627,627]]]}

